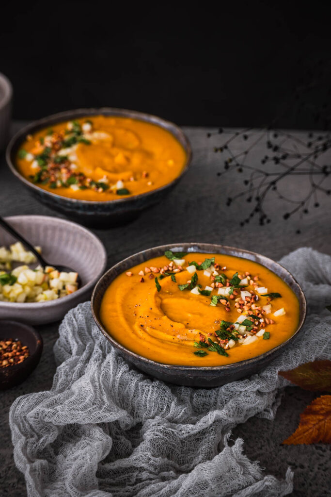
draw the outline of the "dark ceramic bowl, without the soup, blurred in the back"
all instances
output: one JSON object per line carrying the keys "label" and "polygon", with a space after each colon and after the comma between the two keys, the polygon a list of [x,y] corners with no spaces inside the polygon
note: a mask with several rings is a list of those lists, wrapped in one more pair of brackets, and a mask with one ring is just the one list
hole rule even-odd
{"label": "dark ceramic bowl, without the soup, blurred in the back", "polygon": [[[15,157],[18,149],[28,134],[33,134],[42,128],[51,127],[52,125],[62,121],[100,114],[105,116],[131,117],[140,121],[156,124],[157,126],[169,131],[179,141],[187,154],[186,164],[180,175],[170,183],[146,193],[118,200],[92,202],[90,200],[66,198],[58,195],[57,193],[43,190],[38,185],[31,183],[17,170]],[[69,218],[77,219],[82,224],[94,227],[96,225],[101,227],[115,226],[131,221],[136,218],[142,210],[161,202],[167,193],[169,193],[175,184],[180,180],[183,174],[188,170],[191,159],[192,150],[190,142],[183,131],[175,124],[150,114],[108,107],[100,109],[69,110],[67,112],[61,112],[60,114],[45,117],[39,121],[34,121],[16,133],[16,135],[10,140],[6,150],[6,160],[11,171],[26,187],[30,189],[38,200],[45,203],[52,209],[65,213]]]}

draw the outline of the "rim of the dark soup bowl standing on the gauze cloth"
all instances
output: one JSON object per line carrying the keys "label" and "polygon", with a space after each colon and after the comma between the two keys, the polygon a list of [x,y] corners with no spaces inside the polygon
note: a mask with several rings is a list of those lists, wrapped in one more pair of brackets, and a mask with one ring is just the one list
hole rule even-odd
{"label": "rim of the dark soup bowl standing on the gauze cloth", "polygon": [[[292,281],[294,282],[294,284],[297,286],[297,289],[298,289],[298,294],[299,294],[299,297],[298,297],[298,300],[299,300],[299,323],[298,323],[298,327],[297,327],[297,330],[293,333],[293,335],[291,335],[287,340],[285,340],[284,342],[280,343],[279,345],[277,345],[276,347],[273,347],[272,349],[270,350],[267,350],[266,352],[264,352],[263,354],[260,354],[256,357],[252,357],[250,359],[243,359],[242,361],[239,361],[239,362],[233,362],[231,364],[222,364],[222,365],[219,365],[219,366],[190,366],[190,365],[187,365],[187,366],[183,366],[183,365],[180,365],[180,364],[165,364],[165,363],[162,363],[162,362],[156,362],[156,361],[153,361],[151,359],[147,359],[146,357],[143,357],[135,352],[132,352],[131,350],[129,350],[127,347],[125,347],[124,345],[122,345],[121,343],[117,342],[111,335],[110,333],[107,332],[107,330],[104,328],[103,324],[101,323],[101,320],[99,319],[99,317],[96,315],[96,313],[94,312],[94,303],[95,303],[95,300],[96,300],[96,296],[97,296],[97,293],[99,292],[99,289],[100,289],[100,286],[104,280],[104,278],[106,278],[107,275],[109,275],[112,271],[114,271],[115,268],[119,268],[121,267],[123,264],[125,264],[126,262],[130,262],[131,259],[137,255],[145,255],[150,253],[151,250],[167,250],[167,249],[176,249],[178,251],[182,251],[186,248],[189,248],[189,247],[193,247],[193,246],[201,246],[203,245],[204,247],[209,247],[210,248],[210,252],[208,251],[205,251],[205,253],[222,253],[222,252],[219,252],[218,250],[220,248],[224,248],[226,250],[234,250],[234,251],[238,251],[238,252],[241,252],[243,254],[249,254],[249,255],[253,255],[253,256],[258,256],[258,257],[262,257],[265,261],[268,261],[272,264],[276,264],[278,265],[285,273],[287,273],[287,275],[292,279]],[[214,252],[212,252],[211,250],[214,250]],[[195,253],[197,252],[198,250],[195,250],[195,251],[190,251],[190,253]],[[201,250],[201,253],[204,253],[204,250]],[[157,255],[154,255],[154,257],[157,257]],[[242,257],[242,258],[245,258],[244,256],[238,256],[237,257]],[[148,260],[145,259],[145,260]],[[263,263],[261,262],[258,262],[259,264],[261,265],[264,265]],[[272,269],[269,269],[272,271]],[[274,272],[274,271],[273,271]],[[277,274],[277,273],[275,273]],[[277,274],[277,276],[279,276]],[[281,278],[281,276],[279,276]],[[281,278],[283,279],[283,278]],[[113,280],[112,280],[113,281]],[[243,248],[236,248],[236,247],[229,247],[229,246],[226,246],[226,245],[219,245],[219,244],[205,244],[203,242],[182,242],[182,243],[177,243],[177,244],[167,244],[167,245],[159,245],[157,247],[151,247],[151,248],[147,248],[146,250],[141,250],[139,252],[136,252],[132,255],[130,255],[129,257],[126,257],[125,259],[121,260],[120,262],[118,262],[117,264],[115,264],[114,266],[112,266],[110,269],[108,269],[105,274],[103,274],[101,276],[101,278],[98,280],[98,282],[96,283],[95,287],[94,287],[94,290],[93,290],[93,293],[92,293],[92,297],[91,297],[91,312],[92,312],[92,316],[93,316],[93,319],[97,325],[97,327],[99,328],[99,330],[102,332],[102,334],[111,342],[112,345],[115,346],[115,348],[117,348],[118,350],[120,350],[122,353],[126,355],[130,355],[132,358],[134,358],[136,361],[139,361],[139,362],[143,362],[145,363],[146,365],[150,365],[150,366],[153,366],[153,367],[157,367],[163,371],[166,371],[166,370],[173,370],[173,371],[190,371],[190,372],[203,372],[203,371],[231,371],[232,369],[235,369],[238,367],[238,365],[252,365],[252,364],[255,364],[259,361],[261,361],[262,359],[274,354],[275,352],[279,351],[281,348],[283,348],[286,344],[288,344],[289,342],[291,342],[293,339],[295,339],[297,336],[298,336],[298,333],[302,330],[302,327],[305,323],[305,320],[306,320],[306,316],[307,316],[307,301],[306,301],[306,297],[305,297],[305,294],[300,286],[300,284],[298,283],[298,281],[294,278],[294,276],[285,268],[283,267],[281,264],[279,264],[279,262],[276,262],[274,261],[273,259],[263,255],[263,254],[260,254],[258,252],[253,252],[251,250],[246,250],[246,249],[243,249]]]}

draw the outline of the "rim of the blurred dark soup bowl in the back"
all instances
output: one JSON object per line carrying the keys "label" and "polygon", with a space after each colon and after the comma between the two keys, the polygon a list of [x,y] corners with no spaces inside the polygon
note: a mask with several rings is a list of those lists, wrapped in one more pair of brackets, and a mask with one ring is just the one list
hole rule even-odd
{"label": "rim of the blurred dark soup bowl in the back", "polygon": [[[113,115],[113,116],[118,116],[118,117],[128,117],[132,119],[136,119],[139,121],[144,121],[148,122],[150,124],[154,124],[156,126],[159,126],[169,133],[171,133],[174,138],[179,142],[180,140],[177,138],[177,136],[171,131],[174,130],[178,133],[178,135],[181,137],[181,140],[183,143],[181,143],[182,147],[184,148],[187,158],[185,165],[183,169],[181,170],[180,174],[174,178],[172,181],[169,183],[166,183],[163,186],[159,186],[158,188],[155,188],[153,190],[144,192],[144,193],[139,193],[138,195],[131,195],[129,197],[125,198],[119,198],[115,200],[101,200],[101,201],[94,201],[94,200],[83,200],[83,199],[77,199],[77,198],[70,198],[70,197],[65,197],[64,195],[59,195],[58,193],[50,192],[48,190],[44,190],[40,186],[31,183],[28,179],[26,179],[16,168],[14,161],[11,160],[11,156],[13,153],[13,150],[15,147],[19,145],[20,142],[23,141],[23,137],[28,135],[31,131],[37,131],[38,129],[47,127],[48,124],[50,124],[50,121],[52,121],[52,124],[55,123],[60,123],[61,121],[66,121],[67,119],[73,118],[73,117],[84,117],[84,116],[96,116],[96,115],[102,115],[105,113],[106,115]],[[108,113],[108,114],[107,114]],[[185,144],[185,145],[183,145]],[[50,198],[53,198],[55,200],[65,200],[69,202],[70,204],[77,205],[77,204],[84,204],[88,206],[96,206],[96,205],[121,205],[125,204],[125,202],[128,203],[128,201],[134,201],[134,200],[139,200],[140,198],[147,197],[155,192],[160,192],[163,191],[172,185],[176,184],[180,178],[188,171],[189,167],[191,166],[192,163],[192,147],[190,144],[190,141],[182,128],[177,126],[175,123],[168,121],[166,119],[163,119],[161,117],[155,116],[153,114],[148,114],[146,112],[139,112],[136,110],[130,110],[130,109],[120,109],[116,107],[100,107],[100,108],[80,108],[80,109],[72,109],[72,110],[66,110],[64,112],[58,112],[56,114],[52,114],[46,117],[43,117],[41,119],[38,119],[36,121],[32,121],[31,123],[27,124],[23,128],[17,131],[15,135],[11,138],[9,141],[6,152],[5,152],[5,158],[6,158],[6,163],[11,170],[11,172],[20,180],[22,181],[26,186],[29,188],[32,188],[33,190],[37,191],[38,193],[43,192],[45,195],[48,195]]]}

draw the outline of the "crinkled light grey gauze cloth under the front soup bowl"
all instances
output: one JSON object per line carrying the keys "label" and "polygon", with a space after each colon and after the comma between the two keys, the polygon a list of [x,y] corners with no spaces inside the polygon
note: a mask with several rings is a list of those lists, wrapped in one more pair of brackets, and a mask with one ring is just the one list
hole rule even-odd
{"label": "crinkled light grey gauze cloth under the front soup bowl", "polygon": [[[231,430],[272,419],[289,383],[278,371],[331,357],[331,257],[300,248],[283,257],[308,317],[293,345],[260,373],[213,389],[151,380],[105,340],[90,304],[71,310],[54,347],[53,387],[10,411],[17,468],[28,496],[284,496],[293,474],[266,474]],[[261,433],[267,443],[267,434]]]}

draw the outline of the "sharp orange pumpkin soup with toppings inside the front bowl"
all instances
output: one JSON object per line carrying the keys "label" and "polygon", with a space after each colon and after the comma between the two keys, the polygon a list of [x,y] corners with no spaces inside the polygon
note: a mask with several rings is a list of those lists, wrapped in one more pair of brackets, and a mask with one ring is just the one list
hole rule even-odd
{"label": "sharp orange pumpkin soup with toppings inside the front bowl", "polygon": [[218,366],[287,340],[298,326],[299,302],[256,262],[167,250],[112,281],[100,319],[115,340],[148,359]]}

